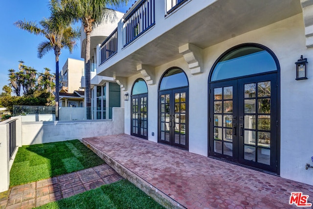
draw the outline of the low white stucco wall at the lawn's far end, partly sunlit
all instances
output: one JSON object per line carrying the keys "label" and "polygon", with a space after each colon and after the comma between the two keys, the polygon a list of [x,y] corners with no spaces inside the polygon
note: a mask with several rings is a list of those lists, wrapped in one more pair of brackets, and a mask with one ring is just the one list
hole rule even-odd
{"label": "low white stucco wall at the lawn's far end, partly sunlit", "polygon": [[113,108],[112,120],[22,122],[22,145],[124,133],[124,109]]}

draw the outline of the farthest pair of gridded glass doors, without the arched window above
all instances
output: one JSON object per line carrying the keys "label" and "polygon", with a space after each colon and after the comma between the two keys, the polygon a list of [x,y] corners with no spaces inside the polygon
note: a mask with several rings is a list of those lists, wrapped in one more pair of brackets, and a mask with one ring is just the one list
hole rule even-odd
{"label": "farthest pair of gridded glass doors, without the arched window above", "polygon": [[148,94],[132,96],[131,135],[148,139]]}

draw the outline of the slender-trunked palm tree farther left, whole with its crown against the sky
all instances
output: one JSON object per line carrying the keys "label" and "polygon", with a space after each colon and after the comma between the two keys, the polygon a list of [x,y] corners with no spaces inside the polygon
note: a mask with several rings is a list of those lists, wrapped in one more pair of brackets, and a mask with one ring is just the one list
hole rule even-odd
{"label": "slender-trunked palm tree farther left, whole with its crown against the sky", "polygon": [[57,0],[50,0],[49,9],[51,15],[48,19],[39,22],[17,21],[15,25],[35,35],[43,35],[47,41],[38,46],[38,57],[42,58],[50,50],[55,54],[55,106],[56,120],[59,119],[59,56],[62,48],[72,52],[76,45],[75,40],[80,36],[78,29],[73,29],[67,18],[64,18],[64,9]]}

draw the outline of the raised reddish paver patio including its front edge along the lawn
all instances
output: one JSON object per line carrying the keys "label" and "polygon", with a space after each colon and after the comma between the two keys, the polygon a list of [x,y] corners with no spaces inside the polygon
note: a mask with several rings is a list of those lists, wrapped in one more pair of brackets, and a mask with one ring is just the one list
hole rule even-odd
{"label": "raised reddish paver patio including its front edge along the lawn", "polygon": [[126,134],[83,142],[121,176],[172,207],[298,208],[289,205],[291,192],[303,192],[313,202],[313,186]]}

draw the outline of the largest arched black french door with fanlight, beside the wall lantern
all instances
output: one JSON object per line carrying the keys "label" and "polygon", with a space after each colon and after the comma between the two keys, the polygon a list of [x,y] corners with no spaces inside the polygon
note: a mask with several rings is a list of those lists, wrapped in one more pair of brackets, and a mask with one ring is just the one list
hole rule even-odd
{"label": "largest arched black french door with fanlight, beside the wall lantern", "polygon": [[279,174],[279,64],[265,46],[227,50],[209,78],[209,156]]}

